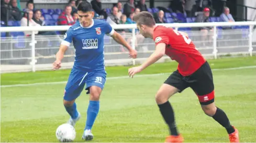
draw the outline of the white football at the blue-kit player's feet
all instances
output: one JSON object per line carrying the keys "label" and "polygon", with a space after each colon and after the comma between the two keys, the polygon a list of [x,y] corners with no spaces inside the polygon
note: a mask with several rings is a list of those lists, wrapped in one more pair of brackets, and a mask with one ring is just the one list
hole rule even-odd
{"label": "white football at the blue-kit player's feet", "polygon": [[75,135],[75,128],[70,124],[62,124],[56,130],[56,137],[60,142],[72,142]]}

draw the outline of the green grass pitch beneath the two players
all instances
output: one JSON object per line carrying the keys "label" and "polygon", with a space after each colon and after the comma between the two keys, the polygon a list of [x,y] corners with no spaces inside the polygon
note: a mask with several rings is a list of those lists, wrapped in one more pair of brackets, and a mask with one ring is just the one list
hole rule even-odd
{"label": "green grass pitch beneath the two players", "polygon": [[[209,60],[213,69],[256,66],[256,57]],[[101,95],[100,111],[91,142],[163,142],[169,134],[154,95],[176,62],[153,64],[144,76],[109,78]],[[128,76],[129,67],[107,67],[108,77]],[[1,85],[61,82],[70,70],[1,74]],[[256,68],[214,70],[216,106],[239,129],[241,142],[256,141]],[[58,142],[55,130],[69,119],[62,97],[65,83],[1,87],[1,142]],[[228,142],[226,130],[202,111],[187,88],[170,98],[176,123],[185,142]],[[85,91],[77,99],[81,119],[75,142],[82,138],[88,106]]]}

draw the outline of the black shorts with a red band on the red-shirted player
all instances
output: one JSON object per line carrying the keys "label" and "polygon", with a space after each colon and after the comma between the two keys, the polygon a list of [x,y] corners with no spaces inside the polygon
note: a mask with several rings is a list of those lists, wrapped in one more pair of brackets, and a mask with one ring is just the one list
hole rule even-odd
{"label": "black shorts with a red band on the red-shirted player", "polygon": [[189,76],[182,76],[176,70],[164,83],[180,89],[180,93],[187,87],[191,87],[201,105],[209,105],[214,102],[213,73],[207,61]]}

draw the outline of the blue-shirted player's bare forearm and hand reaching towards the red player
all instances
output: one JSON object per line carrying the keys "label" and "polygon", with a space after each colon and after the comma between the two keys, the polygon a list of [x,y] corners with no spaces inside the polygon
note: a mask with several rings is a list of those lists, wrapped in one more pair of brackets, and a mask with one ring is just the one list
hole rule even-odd
{"label": "blue-shirted player's bare forearm and hand reaching towards the red player", "polygon": [[124,38],[119,33],[117,33],[115,31],[114,34],[112,35],[112,37],[114,38],[114,40],[117,43],[125,46],[128,49],[128,51],[130,53],[130,57],[132,57],[132,58],[136,58],[137,57],[137,51],[132,49],[131,46],[124,40]]}

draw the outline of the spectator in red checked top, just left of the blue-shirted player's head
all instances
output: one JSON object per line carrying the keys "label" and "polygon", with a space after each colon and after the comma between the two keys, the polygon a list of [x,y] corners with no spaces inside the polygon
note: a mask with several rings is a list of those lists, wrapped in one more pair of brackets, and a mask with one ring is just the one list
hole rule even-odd
{"label": "spectator in red checked top, just left of the blue-shirted player's head", "polygon": [[[75,23],[72,15],[71,15],[72,7],[70,5],[67,5],[65,7],[64,12],[60,14],[58,18],[58,25],[73,25]],[[61,34],[65,34],[65,31],[61,31]]]}

